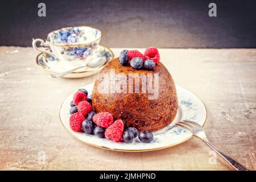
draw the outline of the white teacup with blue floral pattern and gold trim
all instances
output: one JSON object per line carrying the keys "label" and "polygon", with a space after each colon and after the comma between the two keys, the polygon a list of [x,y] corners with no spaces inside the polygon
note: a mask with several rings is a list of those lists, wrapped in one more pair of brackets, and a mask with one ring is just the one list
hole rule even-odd
{"label": "white teacup with blue floral pattern and gold trim", "polygon": [[[40,51],[47,53],[57,59],[72,61],[85,60],[90,56],[101,40],[101,31],[86,26],[66,27],[50,32],[46,41],[42,39],[33,39],[32,46]],[[36,47],[49,46],[50,51]]]}

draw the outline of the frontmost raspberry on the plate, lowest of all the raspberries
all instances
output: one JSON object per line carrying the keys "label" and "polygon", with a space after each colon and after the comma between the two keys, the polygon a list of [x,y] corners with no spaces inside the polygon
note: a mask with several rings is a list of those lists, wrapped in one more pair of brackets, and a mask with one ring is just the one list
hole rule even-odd
{"label": "frontmost raspberry on the plate, lowest of all the raspberries", "polygon": [[114,142],[121,142],[123,135],[123,121],[118,119],[110,125],[105,131],[105,137],[114,140]]}

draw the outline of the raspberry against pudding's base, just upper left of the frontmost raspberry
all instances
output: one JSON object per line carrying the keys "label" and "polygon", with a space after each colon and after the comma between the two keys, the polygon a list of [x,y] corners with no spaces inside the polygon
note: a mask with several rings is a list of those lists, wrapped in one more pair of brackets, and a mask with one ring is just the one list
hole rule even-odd
{"label": "raspberry against pudding's base, just upper left of the frontmost raspberry", "polygon": [[109,127],[114,121],[113,115],[111,113],[98,113],[93,117],[93,122],[101,127]]}

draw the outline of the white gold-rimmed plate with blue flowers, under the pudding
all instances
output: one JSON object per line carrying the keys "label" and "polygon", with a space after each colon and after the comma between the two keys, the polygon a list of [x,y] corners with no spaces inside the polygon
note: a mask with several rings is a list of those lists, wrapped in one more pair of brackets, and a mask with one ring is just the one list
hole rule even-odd
{"label": "white gold-rimmed plate with blue flowers, under the pudding", "polygon": [[[92,95],[93,84],[86,85],[84,88],[88,90],[88,96],[90,97]],[[95,135],[89,135],[71,130],[69,127],[69,109],[71,106],[69,104],[72,101],[73,94],[68,96],[61,105],[60,120],[65,129],[67,129],[67,131],[74,137],[82,142],[100,148],[115,151],[142,152],[172,147],[176,144],[183,143],[192,137],[192,134],[190,134],[188,131],[176,126],[176,122],[188,119],[203,126],[207,118],[207,110],[199,97],[181,86],[176,85],[176,90],[179,102],[177,115],[170,125],[153,132],[154,139],[150,143],[142,143],[138,137],[134,139],[133,143],[113,142],[112,140],[106,138],[98,138]]]}

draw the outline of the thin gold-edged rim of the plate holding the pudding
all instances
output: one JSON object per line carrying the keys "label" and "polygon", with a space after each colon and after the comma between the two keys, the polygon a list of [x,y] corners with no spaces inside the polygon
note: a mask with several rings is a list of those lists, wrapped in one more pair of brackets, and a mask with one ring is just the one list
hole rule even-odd
{"label": "thin gold-edged rim of the plate holding the pudding", "polygon": [[[185,89],[187,90],[187,89]],[[191,92],[189,90],[187,90],[188,92]],[[205,106],[204,102],[193,92],[191,92],[192,94],[194,94],[204,105],[204,108],[205,108],[205,118],[204,118],[204,123],[202,126],[204,126],[205,124],[205,121],[207,120],[207,107]],[[67,98],[65,98],[66,100]],[[63,103],[65,102],[65,100],[62,102],[61,106],[60,106],[60,110],[61,108],[63,107]],[[183,143],[183,142],[187,142],[189,139],[191,139],[193,137],[193,135],[191,135],[190,137],[180,141],[180,142],[177,142],[177,143],[174,143],[174,144],[171,144],[171,145],[168,145],[168,146],[164,146],[164,147],[158,147],[158,148],[152,148],[152,149],[144,149],[144,150],[122,150],[122,149],[117,149],[117,148],[108,148],[108,147],[104,147],[104,146],[98,146],[96,144],[93,144],[93,143],[90,143],[90,142],[85,142],[83,140],[81,140],[79,137],[77,137],[76,135],[74,135],[71,131],[69,131],[63,121],[61,120],[61,117],[60,117],[60,111],[59,111],[59,118],[60,118],[60,122],[61,124],[63,125],[63,127],[65,128],[66,131],[68,131],[69,134],[71,134],[73,137],[75,137],[76,139],[80,140],[81,142],[84,142],[86,144],[89,144],[90,146],[94,146],[94,147],[97,147],[97,148],[102,148],[102,149],[105,149],[105,150],[112,150],[112,151],[119,151],[119,152],[149,152],[149,151],[156,151],[156,150],[162,150],[162,149],[165,149],[165,148],[170,148],[170,147],[173,147],[173,146],[176,146],[177,144],[180,144],[180,143]]]}

